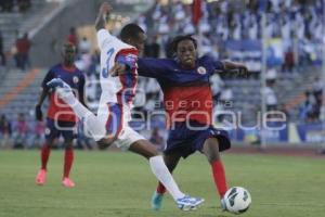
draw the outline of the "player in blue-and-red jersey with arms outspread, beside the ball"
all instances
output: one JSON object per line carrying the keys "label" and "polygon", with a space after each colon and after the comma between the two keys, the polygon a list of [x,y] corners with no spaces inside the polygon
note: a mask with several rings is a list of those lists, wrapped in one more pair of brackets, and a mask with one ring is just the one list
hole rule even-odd
{"label": "player in blue-and-red jersey with arms outspread, beside the ball", "polygon": [[[176,59],[139,59],[140,76],[156,78],[164,92],[169,137],[164,158],[170,171],[177,167],[181,157],[196,151],[206,155],[210,163],[212,177],[222,200],[227,190],[224,167],[220,152],[230,149],[227,132],[212,126],[212,94],[209,77],[216,72],[236,71],[247,73],[240,63],[214,61],[209,55],[197,58],[197,42],[191,36],[176,37],[171,43]],[[117,66],[113,74],[122,73]],[[160,182],[152,199],[152,207],[159,209],[165,193]]]}

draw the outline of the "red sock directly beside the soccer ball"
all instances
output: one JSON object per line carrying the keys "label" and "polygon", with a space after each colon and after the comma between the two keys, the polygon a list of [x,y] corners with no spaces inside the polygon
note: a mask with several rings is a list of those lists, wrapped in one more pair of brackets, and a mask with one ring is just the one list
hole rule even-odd
{"label": "red sock directly beside the soccer ball", "polygon": [[218,189],[220,199],[225,194],[227,187],[225,181],[225,173],[221,161],[216,161],[211,164],[212,174],[216,187]]}

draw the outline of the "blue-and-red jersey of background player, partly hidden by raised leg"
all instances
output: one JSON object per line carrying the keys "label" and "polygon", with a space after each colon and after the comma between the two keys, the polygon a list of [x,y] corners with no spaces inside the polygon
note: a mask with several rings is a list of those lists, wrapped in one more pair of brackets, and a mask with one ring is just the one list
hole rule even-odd
{"label": "blue-and-red jersey of background player, partly hidden by raised leg", "polygon": [[[61,78],[68,84],[79,98],[83,98],[84,75],[77,67],[65,67],[63,64],[54,65],[50,68],[42,81],[42,88],[48,89],[47,82],[53,78]],[[74,111],[54,92],[49,97],[48,117],[54,120],[77,122]]]}

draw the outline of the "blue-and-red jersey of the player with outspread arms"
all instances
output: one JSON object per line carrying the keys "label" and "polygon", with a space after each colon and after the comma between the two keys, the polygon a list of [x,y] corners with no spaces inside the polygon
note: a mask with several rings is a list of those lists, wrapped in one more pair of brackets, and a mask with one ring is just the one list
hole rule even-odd
{"label": "blue-and-red jersey of the player with outspread arms", "polygon": [[192,69],[183,68],[171,59],[140,59],[140,76],[156,78],[164,92],[168,125],[185,120],[212,124],[212,93],[209,77],[224,71],[220,61],[205,55]]}

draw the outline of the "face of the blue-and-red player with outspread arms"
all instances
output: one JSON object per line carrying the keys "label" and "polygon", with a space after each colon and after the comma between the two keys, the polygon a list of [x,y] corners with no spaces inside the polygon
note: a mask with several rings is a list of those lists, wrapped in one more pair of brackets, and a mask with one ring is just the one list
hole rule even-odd
{"label": "face of the blue-and-red player with outspread arms", "polygon": [[192,40],[182,40],[178,43],[177,59],[186,68],[195,67],[196,49]]}

